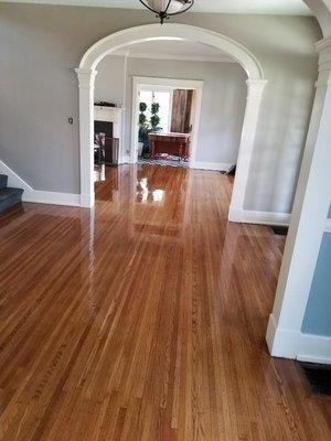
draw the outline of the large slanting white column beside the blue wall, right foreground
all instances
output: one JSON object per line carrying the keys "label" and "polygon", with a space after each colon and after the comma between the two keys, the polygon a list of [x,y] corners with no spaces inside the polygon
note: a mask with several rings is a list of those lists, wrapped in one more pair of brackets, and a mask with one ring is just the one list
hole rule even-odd
{"label": "large slanting white column beside the blue wall, right foreground", "polygon": [[285,247],[267,343],[271,355],[296,358],[331,201],[331,39],[317,44],[319,78]]}

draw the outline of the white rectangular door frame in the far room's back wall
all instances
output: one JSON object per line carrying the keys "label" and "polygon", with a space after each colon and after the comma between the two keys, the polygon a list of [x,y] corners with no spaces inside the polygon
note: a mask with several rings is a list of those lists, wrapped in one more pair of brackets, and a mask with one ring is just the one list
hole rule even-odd
{"label": "white rectangular door frame in the far room's back wall", "polygon": [[194,109],[194,122],[190,142],[190,168],[194,166],[197,135],[200,127],[201,117],[201,105],[202,105],[202,93],[203,82],[193,79],[175,79],[175,78],[157,78],[147,76],[134,76],[132,77],[132,109],[131,109],[131,151],[130,151],[130,163],[137,162],[137,148],[138,148],[138,127],[139,127],[139,90],[145,86],[163,86],[168,89],[189,89],[195,90],[195,109]]}

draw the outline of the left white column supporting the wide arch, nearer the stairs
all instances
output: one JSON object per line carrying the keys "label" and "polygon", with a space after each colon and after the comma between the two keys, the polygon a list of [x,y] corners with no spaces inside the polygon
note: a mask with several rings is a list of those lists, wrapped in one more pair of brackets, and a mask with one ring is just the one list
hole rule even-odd
{"label": "left white column supporting the wide arch, nearer the stairs", "polygon": [[96,71],[77,68],[79,87],[81,206],[94,206],[94,82]]}

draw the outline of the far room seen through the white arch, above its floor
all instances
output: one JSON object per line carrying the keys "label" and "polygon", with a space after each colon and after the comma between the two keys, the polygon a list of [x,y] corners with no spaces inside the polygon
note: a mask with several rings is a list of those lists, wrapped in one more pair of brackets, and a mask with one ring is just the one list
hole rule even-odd
{"label": "far room seen through the white arch, above its floor", "polygon": [[243,67],[189,41],[130,44],[95,80],[95,175],[124,163],[234,174],[247,85]]}

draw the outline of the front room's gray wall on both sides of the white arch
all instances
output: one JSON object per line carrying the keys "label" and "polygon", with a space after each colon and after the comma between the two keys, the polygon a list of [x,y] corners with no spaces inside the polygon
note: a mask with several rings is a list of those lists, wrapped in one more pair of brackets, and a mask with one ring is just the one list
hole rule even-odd
{"label": "front room's gray wall on both sides of the white arch", "polygon": [[[172,21],[233,37],[260,61],[269,83],[245,207],[290,211],[317,77],[316,20],[188,13]],[[35,189],[78,193],[73,68],[100,37],[154,22],[145,11],[0,3],[0,159]]]}

